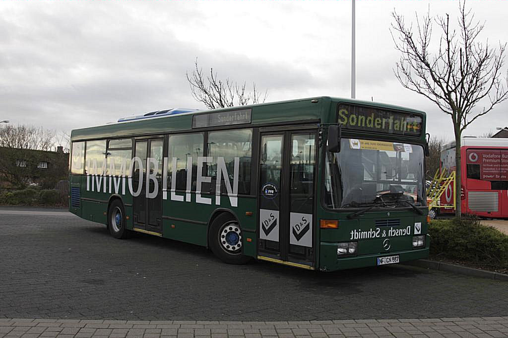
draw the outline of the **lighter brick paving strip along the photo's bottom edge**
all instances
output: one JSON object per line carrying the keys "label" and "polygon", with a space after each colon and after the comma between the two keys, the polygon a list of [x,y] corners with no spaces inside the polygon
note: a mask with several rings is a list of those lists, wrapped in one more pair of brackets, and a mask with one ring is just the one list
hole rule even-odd
{"label": "lighter brick paving strip along the photo's bottom edge", "polygon": [[51,320],[0,318],[0,338],[505,337],[508,317],[312,321]]}

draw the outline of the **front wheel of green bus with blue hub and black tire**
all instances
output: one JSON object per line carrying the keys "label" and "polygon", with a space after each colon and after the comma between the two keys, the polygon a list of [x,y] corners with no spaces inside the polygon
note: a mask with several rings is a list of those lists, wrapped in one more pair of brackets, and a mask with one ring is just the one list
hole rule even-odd
{"label": "front wheel of green bus with blue hub and black tire", "polygon": [[212,252],[227,264],[245,264],[250,257],[242,254],[240,224],[230,213],[217,216],[210,225],[208,243]]}

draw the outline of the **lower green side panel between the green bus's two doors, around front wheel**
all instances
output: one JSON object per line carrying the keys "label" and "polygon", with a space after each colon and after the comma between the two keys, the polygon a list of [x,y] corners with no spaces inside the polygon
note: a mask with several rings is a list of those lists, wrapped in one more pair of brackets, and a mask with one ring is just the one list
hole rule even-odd
{"label": "lower green side panel between the green bus's two doors, around front wheel", "polygon": [[[255,198],[238,197],[238,206],[232,207],[227,196],[221,196],[220,205],[216,205],[213,195],[202,195],[204,198],[211,198],[212,204],[200,204],[195,202],[195,193],[191,194],[191,202],[172,201],[169,194],[171,193],[168,193],[168,199],[163,201],[163,237],[208,246],[208,221],[211,215],[217,209],[230,210],[240,222],[244,254],[255,256],[257,224]],[[251,216],[247,216],[246,212],[252,212]]]}

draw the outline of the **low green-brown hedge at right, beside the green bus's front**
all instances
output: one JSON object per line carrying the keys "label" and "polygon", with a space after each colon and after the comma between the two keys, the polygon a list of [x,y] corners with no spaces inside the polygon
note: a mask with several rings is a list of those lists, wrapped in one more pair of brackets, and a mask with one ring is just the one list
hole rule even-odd
{"label": "low green-brown hedge at right, beside the green bus's front", "polygon": [[429,234],[432,255],[508,267],[508,236],[478,218],[433,220]]}

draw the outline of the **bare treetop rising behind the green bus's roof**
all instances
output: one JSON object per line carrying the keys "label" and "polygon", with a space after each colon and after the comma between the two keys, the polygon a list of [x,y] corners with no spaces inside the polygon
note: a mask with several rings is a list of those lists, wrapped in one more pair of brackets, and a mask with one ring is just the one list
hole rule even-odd
{"label": "bare treetop rising behind the green bus's roof", "polygon": [[229,78],[221,80],[213,68],[210,68],[210,75],[205,76],[203,69],[198,65],[198,58],[194,62],[194,70],[190,74],[187,72],[186,76],[192,96],[210,109],[262,103],[268,95],[267,91],[261,93],[255,83],[252,83],[252,91],[249,92],[246,90],[245,82],[238,85]]}

